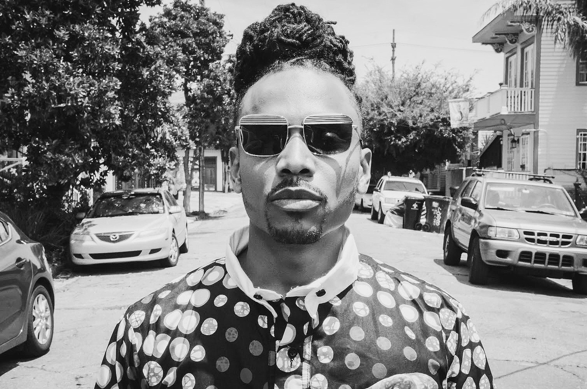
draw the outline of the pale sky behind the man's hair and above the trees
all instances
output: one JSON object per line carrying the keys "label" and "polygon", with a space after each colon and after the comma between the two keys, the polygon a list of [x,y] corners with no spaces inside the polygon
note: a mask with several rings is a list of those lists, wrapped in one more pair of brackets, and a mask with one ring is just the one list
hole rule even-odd
{"label": "pale sky behind the man's hair and above the trees", "polygon": [[[195,1],[195,0],[194,0]],[[363,78],[373,63],[392,70],[393,29],[396,31],[396,74],[418,65],[454,70],[474,75],[473,97],[499,88],[503,79],[503,54],[490,46],[472,43],[471,38],[491,18],[483,14],[496,0],[313,0],[297,1],[345,35],[355,53],[357,78]],[[164,4],[171,1],[164,0]],[[279,0],[205,0],[214,12],[225,15],[224,28],[232,33],[225,53],[234,53],[242,31],[252,22],[264,19]],[[141,19],[161,11],[161,7],[141,7]]]}

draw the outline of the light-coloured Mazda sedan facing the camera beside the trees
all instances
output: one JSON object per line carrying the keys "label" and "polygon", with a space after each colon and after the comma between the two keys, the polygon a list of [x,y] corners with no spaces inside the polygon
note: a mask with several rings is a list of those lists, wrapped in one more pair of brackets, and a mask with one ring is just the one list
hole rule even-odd
{"label": "light-coloured Mazda sedan facing the camera beside the trees", "polygon": [[188,251],[185,210],[163,189],[103,193],[73,230],[69,248],[76,265],[161,260],[176,266]]}

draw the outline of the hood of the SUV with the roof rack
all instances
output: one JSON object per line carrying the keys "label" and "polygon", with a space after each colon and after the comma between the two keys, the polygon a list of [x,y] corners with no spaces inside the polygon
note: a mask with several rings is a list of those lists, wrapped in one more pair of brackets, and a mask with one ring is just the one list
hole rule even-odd
{"label": "hood of the SUV with the roof rack", "polygon": [[579,217],[531,212],[485,209],[491,224],[522,230],[542,230],[571,234],[587,234],[587,222]]}

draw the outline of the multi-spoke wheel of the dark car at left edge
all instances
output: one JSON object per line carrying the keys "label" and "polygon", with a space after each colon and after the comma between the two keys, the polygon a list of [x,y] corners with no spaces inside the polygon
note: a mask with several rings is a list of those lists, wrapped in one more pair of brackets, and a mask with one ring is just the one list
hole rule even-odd
{"label": "multi-spoke wheel of the dark car at left edge", "polygon": [[29,300],[29,317],[26,341],[22,344],[22,354],[39,357],[46,354],[53,341],[53,301],[47,289],[38,285]]}

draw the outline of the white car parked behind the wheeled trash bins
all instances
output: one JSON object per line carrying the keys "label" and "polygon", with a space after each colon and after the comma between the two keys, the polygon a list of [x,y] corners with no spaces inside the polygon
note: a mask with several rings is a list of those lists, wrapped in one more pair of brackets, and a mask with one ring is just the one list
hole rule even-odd
{"label": "white car parked behind the wheeled trash bins", "polygon": [[383,176],[373,189],[371,219],[383,224],[387,211],[404,197],[424,199],[424,195],[427,194],[426,187],[417,178]]}

